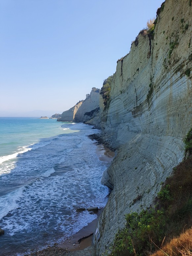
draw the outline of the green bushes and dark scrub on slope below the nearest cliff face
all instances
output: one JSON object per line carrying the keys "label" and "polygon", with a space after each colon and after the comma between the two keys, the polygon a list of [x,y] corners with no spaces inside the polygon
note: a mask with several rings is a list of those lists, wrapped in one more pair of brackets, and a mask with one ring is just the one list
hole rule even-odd
{"label": "green bushes and dark scrub on slope below the nearest cliff face", "polygon": [[153,206],[125,214],[125,227],[118,230],[110,256],[149,255],[192,226],[192,128],[184,143],[189,157],[173,169]]}

